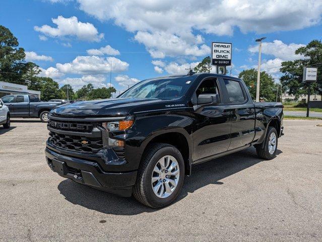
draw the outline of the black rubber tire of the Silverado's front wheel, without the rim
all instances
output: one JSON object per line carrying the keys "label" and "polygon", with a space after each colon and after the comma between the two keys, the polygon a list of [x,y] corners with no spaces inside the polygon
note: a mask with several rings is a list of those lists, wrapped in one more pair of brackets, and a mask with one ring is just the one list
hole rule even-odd
{"label": "black rubber tire of the Silverado's front wheel, without the rim", "polygon": [[[152,173],[157,162],[166,155],[173,156],[179,166],[179,181],[172,194],[167,198],[157,197],[152,189]],[[172,203],[179,195],[184,179],[184,161],[180,151],[172,145],[155,143],[144,153],[138,170],[136,184],[133,188],[134,197],[142,204],[152,208],[162,208]]]}

